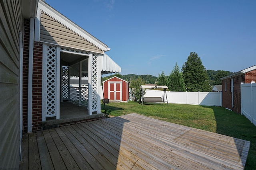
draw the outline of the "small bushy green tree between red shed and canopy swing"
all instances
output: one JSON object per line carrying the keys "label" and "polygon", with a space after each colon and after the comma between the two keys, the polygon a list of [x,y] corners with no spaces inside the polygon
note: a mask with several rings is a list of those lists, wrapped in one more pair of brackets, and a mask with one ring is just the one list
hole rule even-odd
{"label": "small bushy green tree between red shed and canopy swing", "polygon": [[146,93],[145,90],[141,91],[140,89],[140,86],[144,84],[145,84],[145,81],[141,77],[130,80],[130,88],[131,88],[130,92],[131,92],[133,101],[140,102],[142,95]]}

